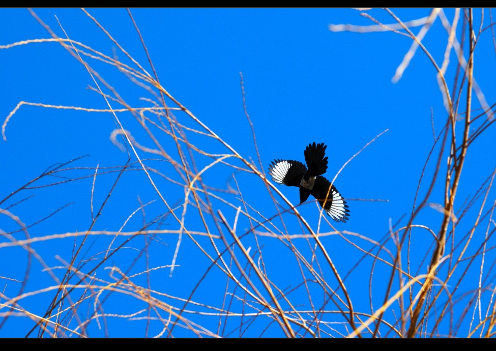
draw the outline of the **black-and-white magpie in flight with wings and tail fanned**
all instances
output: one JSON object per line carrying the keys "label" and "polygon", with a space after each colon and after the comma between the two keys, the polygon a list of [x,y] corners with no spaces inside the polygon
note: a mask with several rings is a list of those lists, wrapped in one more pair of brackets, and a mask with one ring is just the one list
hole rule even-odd
{"label": "black-and-white magpie in flight with wings and tail fanned", "polygon": [[349,216],[346,201],[336,187],[322,176],[327,170],[326,148],[324,143],[309,144],[304,152],[307,166],[300,161],[275,159],[269,167],[269,174],[278,184],[299,187],[300,203],[312,195],[329,217],[336,222],[346,222]]}

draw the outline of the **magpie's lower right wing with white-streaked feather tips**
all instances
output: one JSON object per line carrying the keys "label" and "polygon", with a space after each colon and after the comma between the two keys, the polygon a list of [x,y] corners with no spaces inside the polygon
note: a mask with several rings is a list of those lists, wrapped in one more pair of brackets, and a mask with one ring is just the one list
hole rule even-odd
{"label": "magpie's lower right wing with white-streaked feather tips", "polygon": [[[331,188],[330,191],[329,188]],[[326,199],[328,191],[329,196]],[[336,187],[334,185],[331,186],[331,182],[325,177],[318,176],[315,179],[312,195],[318,200],[318,203],[324,208],[329,217],[336,222],[346,222],[349,219],[349,210],[346,201],[344,201],[344,198]]]}

